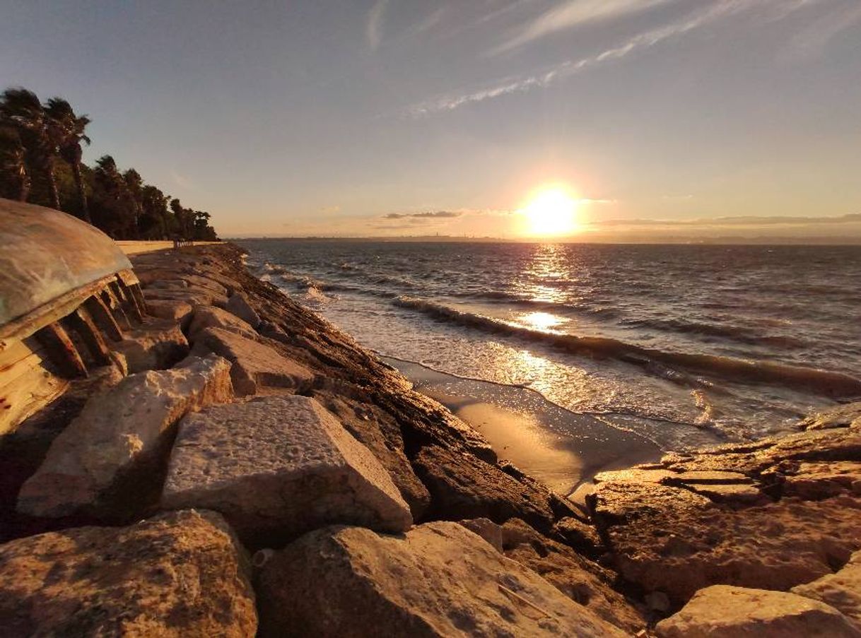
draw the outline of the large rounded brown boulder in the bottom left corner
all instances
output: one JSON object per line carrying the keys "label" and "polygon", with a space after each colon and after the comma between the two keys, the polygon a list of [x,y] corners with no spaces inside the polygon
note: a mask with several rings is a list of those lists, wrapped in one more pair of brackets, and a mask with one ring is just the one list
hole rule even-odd
{"label": "large rounded brown boulder in the bottom left corner", "polygon": [[213,512],[81,527],[0,546],[3,635],[250,636],[244,550]]}

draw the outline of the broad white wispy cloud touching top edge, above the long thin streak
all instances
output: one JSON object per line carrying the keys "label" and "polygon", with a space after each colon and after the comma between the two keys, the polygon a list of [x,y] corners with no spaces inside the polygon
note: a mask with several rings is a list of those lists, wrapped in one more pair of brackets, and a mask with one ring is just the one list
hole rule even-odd
{"label": "broad white wispy cloud touching top edge, above the long thin streak", "polygon": [[490,55],[505,53],[546,35],[590,22],[611,20],[635,13],[641,13],[660,4],[676,0],[569,0],[554,9],[539,15],[501,45],[494,47]]}

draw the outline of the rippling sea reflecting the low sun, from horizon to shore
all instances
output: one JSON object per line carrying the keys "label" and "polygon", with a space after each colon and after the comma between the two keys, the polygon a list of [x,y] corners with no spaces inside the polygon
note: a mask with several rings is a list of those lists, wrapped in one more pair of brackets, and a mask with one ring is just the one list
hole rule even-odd
{"label": "rippling sea reflecting the low sun, from horizon to shore", "polygon": [[239,243],[408,375],[529,388],[660,449],[861,396],[861,247]]}

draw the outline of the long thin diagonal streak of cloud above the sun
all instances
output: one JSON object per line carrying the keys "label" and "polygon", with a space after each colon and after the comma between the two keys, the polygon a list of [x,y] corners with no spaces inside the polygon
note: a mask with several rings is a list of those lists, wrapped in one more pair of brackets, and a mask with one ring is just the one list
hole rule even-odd
{"label": "long thin diagonal streak of cloud above the sun", "polygon": [[454,110],[455,108],[460,108],[474,102],[484,102],[494,97],[541,89],[553,84],[554,82],[558,82],[562,78],[570,77],[579,73],[580,71],[585,71],[586,69],[603,65],[604,63],[613,60],[623,59],[632,53],[646,50],[666,40],[681,37],[684,34],[689,34],[697,29],[704,28],[713,22],[718,22],[730,16],[738,15],[750,9],[776,8],[779,11],[778,16],[783,18],[786,15],[790,15],[790,13],[797,9],[801,9],[808,4],[820,1],[821,0],[795,0],[795,2],[787,2],[787,0],[717,0],[716,2],[711,3],[707,9],[689,13],[677,22],[671,22],[662,27],[644,31],[641,34],[637,34],[634,37],[629,38],[629,40],[624,40],[617,46],[604,49],[604,51],[601,51],[600,53],[586,56],[584,58],[569,59],[530,76],[508,77],[478,90],[461,93],[459,95],[443,96],[429,102],[421,102],[407,108],[406,114],[411,115],[412,117],[421,117],[441,111]]}

